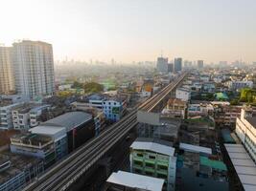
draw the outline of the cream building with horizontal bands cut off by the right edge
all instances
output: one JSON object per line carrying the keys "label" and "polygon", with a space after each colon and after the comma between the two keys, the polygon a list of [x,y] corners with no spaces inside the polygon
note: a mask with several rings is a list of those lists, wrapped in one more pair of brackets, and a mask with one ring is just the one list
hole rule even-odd
{"label": "cream building with horizontal bands cut off by the right edge", "polygon": [[250,107],[244,106],[241,117],[237,117],[236,134],[241,139],[244,147],[251,157],[256,161],[256,117]]}

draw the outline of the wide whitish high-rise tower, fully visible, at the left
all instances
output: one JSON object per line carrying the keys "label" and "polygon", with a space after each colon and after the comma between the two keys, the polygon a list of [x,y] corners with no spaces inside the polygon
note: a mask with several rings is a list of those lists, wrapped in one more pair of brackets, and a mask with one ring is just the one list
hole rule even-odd
{"label": "wide whitish high-rise tower, fully visible, at the left", "polygon": [[30,40],[13,43],[13,71],[18,94],[30,97],[53,95],[52,45]]}

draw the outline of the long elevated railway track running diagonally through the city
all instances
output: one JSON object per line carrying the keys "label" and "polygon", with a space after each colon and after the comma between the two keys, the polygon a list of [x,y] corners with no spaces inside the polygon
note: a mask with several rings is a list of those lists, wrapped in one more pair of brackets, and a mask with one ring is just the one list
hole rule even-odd
{"label": "long elevated railway track running diagonally through the city", "polygon": [[151,112],[157,104],[168,96],[183,81],[188,73],[180,74],[175,81],[164,87],[158,94],[151,96],[128,116],[106,128],[98,137],[83,144],[67,158],[62,159],[24,188],[25,191],[57,191],[68,190],[70,185],[81,178],[88,169],[101,159],[118,141],[125,138],[137,122],[137,110]]}

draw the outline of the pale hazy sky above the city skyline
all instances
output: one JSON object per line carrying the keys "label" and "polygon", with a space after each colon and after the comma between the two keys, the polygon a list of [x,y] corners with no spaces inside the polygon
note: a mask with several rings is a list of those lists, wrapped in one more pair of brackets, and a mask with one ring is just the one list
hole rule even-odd
{"label": "pale hazy sky above the city skyline", "polygon": [[1,0],[0,42],[24,38],[56,59],[256,61],[256,0]]}

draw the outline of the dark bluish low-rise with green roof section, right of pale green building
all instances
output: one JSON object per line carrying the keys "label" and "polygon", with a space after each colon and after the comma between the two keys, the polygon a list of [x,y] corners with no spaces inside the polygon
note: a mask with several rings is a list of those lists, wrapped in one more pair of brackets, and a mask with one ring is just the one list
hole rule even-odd
{"label": "dark bluish low-rise with green roof section, right of pale green building", "polygon": [[177,156],[176,190],[229,190],[226,165],[210,154],[210,148],[189,144],[182,147]]}

